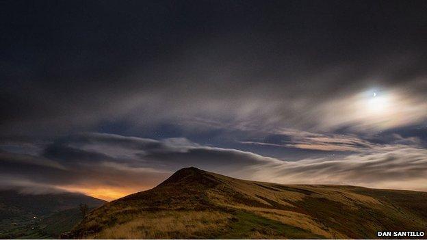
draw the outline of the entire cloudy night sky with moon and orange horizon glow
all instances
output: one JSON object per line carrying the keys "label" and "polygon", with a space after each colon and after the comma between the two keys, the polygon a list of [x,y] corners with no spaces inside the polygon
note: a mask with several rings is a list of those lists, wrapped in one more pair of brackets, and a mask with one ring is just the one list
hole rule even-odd
{"label": "entire cloudy night sky with moon and orange horizon glow", "polygon": [[427,191],[427,1],[1,1],[0,188],[195,166]]}

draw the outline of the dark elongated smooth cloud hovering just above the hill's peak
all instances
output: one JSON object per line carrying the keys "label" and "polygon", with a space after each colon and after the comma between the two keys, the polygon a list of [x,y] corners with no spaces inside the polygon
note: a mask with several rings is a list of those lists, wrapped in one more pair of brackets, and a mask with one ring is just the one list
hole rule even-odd
{"label": "dark elongated smooth cloud hovering just above the hill's peak", "polygon": [[[58,144],[61,142],[61,144]],[[185,138],[160,141],[113,134],[82,133],[60,139],[44,150],[43,157],[67,164],[114,162],[138,168],[175,171],[185,166],[233,172],[245,165],[272,161],[235,149],[201,146]]]}

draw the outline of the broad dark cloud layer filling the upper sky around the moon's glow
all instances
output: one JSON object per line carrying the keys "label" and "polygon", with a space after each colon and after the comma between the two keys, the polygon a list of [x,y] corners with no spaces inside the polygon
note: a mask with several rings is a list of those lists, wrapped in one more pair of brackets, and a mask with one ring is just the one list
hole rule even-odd
{"label": "broad dark cloud layer filling the upper sky around the moon's glow", "polygon": [[[105,120],[138,127],[378,124],[346,112],[335,122],[324,105],[401,87],[417,104],[427,90],[423,1],[2,6],[3,135],[88,131]],[[425,120],[419,115],[415,122]]]}

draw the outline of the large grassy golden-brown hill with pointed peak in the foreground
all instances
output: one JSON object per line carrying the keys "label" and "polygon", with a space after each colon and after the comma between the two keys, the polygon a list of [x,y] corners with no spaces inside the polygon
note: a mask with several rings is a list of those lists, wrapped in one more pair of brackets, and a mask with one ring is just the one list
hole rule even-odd
{"label": "large grassy golden-brown hill with pointed peak in the foreground", "polygon": [[340,185],[279,185],[184,168],[148,191],[92,211],[85,238],[377,238],[427,229],[427,193]]}

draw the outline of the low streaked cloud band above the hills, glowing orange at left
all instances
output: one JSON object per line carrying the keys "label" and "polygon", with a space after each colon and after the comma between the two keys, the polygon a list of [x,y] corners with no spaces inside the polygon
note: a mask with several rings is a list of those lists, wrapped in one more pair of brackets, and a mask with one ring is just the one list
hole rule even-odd
{"label": "low streaked cloud band above the hills, glowing orange at left", "polygon": [[[315,142],[325,137],[302,135]],[[427,150],[417,146],[415,139],[395,138],[406,145],[367,144],[365,140],[344,137],[341,142],[363,151],[339,159],[283,161],[248,151],[203,146],[183,138],[155,140],[82,133],[58,139],[45,148],[42,156],[32,156],[31,161],[16,153],[3,154],[0,172],[3,178],[9,178],[3,185],[82,191],[107,200],[154,187],[175,170],[188,166],[274,183],[427,190],[422,184],[427,180]]]}

